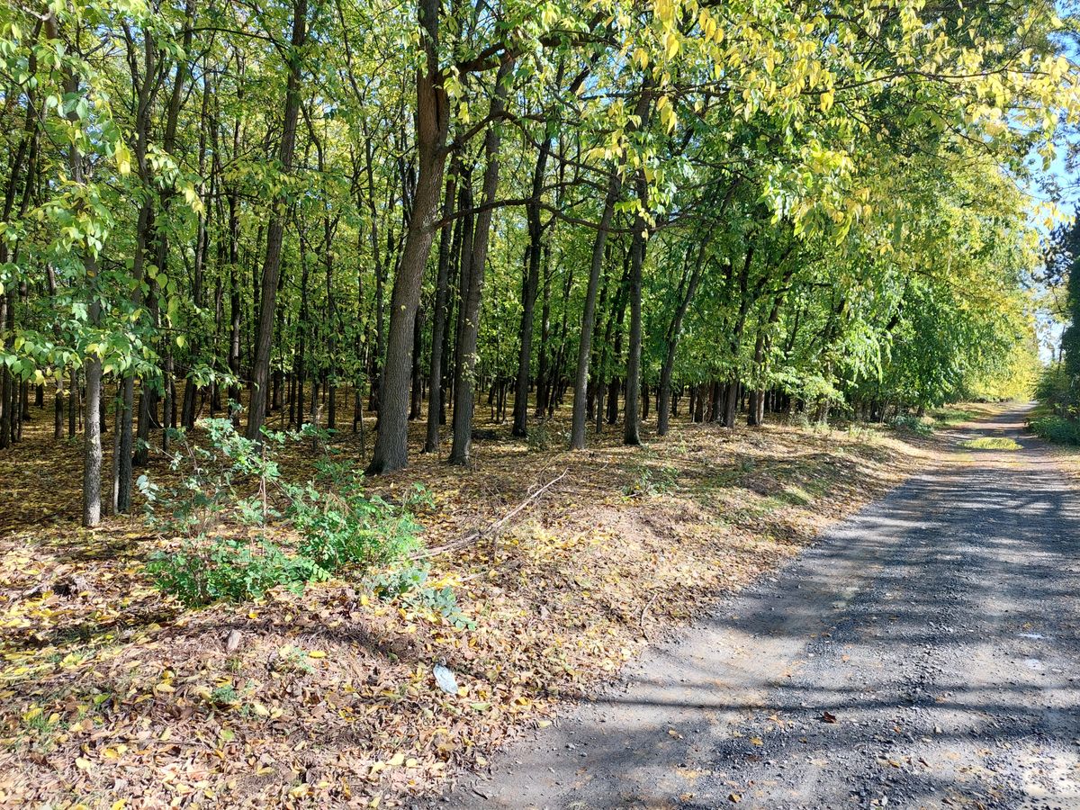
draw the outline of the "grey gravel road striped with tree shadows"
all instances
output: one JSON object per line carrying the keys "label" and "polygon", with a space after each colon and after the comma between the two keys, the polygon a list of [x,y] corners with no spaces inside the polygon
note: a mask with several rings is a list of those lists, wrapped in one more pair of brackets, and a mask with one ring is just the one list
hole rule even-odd
{"label": "grey gravel road striped with tree shadows", "polygon": [[436,806],[1080,808],[1080,497],[1024,416]]}

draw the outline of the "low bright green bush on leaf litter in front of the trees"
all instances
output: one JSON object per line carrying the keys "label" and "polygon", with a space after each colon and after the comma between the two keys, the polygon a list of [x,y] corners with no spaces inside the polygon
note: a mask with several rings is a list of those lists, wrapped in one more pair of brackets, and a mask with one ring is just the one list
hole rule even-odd
{"label": "low bright green bush on leaf litter in front of the trees", "polygon": [[[321,477],[330,480],[332,488],[281,481],[278,449],[286,441],[318,441],[314,429],[293,434],[265,431],[265,441],[258,444],[239,435],[227,419],[201,424],[207,432],[205,447],[188,441],[184,431],[175,433],[180,449],[172,457],[172,467],[181,473],[177,486],[162,491],[145,475],[138,481],[151,524],[163,535],[183,538],[176,551],[154,554],[147,572],[158,588],[185,605],[258,598],[279,585],[302,591],[342,566],[386,564],[417,546],[420,526],[409,509],[366,497],[362,476],[328,456],[316,468]],[[283,548],[261,531],[254,539],[221,532],[227,521],[261,528],[280,517],[275,498],[287,502],[283,511],[299,534],[295,548]],[[414,487],[406,500],[432,503],[422,487]]]}

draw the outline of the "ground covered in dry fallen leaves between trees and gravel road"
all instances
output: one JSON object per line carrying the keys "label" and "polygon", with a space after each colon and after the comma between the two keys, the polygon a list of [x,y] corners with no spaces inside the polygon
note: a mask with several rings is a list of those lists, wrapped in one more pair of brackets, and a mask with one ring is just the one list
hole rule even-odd
{"label": "ground covered in dry fallen leaves between trees and gravel road", "polygon": [[[475,622],[459,630],[374,598],[359,575],[184,609],[144,571],[164,541],[140,517],[79,526],[81,446],[52,437],[51,413],[35,408],[24,441],[0,453],[0,806],[390,807],[437,792],[942,444],[679,419],[644,448],[608,428],[569,454],[558,419],[542,431],[550,449],[480,424],[496,438],[475,445],[470,471],[416,455],[368,482],[388,499],[429,487],[419,518],[437,548],[566,473],[498,536],[431,558],[431,580]],[[360,458],[354,437],[337,446]],[[306,478],[316,454],[291,451],[286,474]],[[154,457],[147,473],[166,467]],[[438,688],[440,663],[457,694]]]}

